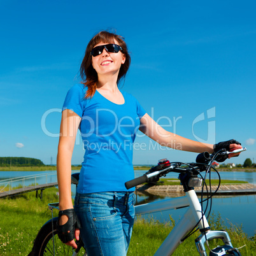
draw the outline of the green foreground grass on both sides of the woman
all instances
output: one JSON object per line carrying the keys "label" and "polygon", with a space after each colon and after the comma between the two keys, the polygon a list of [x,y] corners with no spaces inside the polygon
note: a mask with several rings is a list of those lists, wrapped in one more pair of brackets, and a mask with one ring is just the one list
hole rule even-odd
{"label": "green foreground grass on both sides of the woman", "polygon": [[[42,200],[36,198],[36,192],[29,192],[9,199],[0,199],[0,255],[27,255],[31,252],[37,232],[51,218],[47,204],[57,201],[57,188],[45,189]],[[54,215],[57,215],[57,211]],[[222,220],[218,216],[214,217],[211,223],[213,229],[224,228]],[[173,228],[173,224],[171,218],[167,224],[160,224],[153,220],[146,222],[138,218],[134,225],[128,255],[153,255]],[[234,246],[246,244],[245,248],[241,249],[242,255],[256,255],[255,237],[248,238],[240,227],[235,226],[229,228],[229,234]],[[198,255],[194,246],[196,236],[198,234],[185,240],[174,255]]]}

